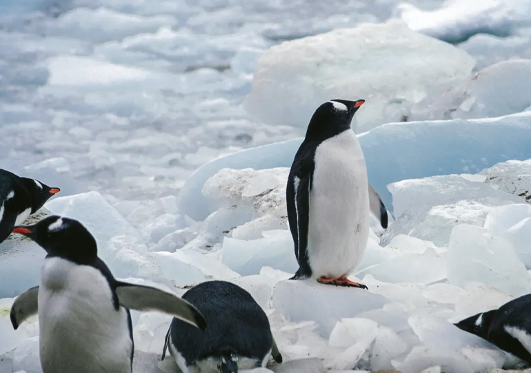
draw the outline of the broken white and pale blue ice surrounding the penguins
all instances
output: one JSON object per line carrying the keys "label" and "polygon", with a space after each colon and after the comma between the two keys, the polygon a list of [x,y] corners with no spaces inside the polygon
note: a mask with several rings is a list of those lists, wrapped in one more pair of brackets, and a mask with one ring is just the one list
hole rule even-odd
{"label": "broken white and pale blue ice surrounding the penguins", "polygon": [[[81,220],[119,278],[248,289],[274,372],[486,372],[511,364],[452,322],[531,291],[529,58],[529,0],[4,0],[0,167],[54,180],[32,218]],[[286,280],[288,167],[333,98],[367,100],[394,217],[352,274],[369,291]],[[41,372],[37,321],[8,312],[43,255],[0,245],[0,373]],[[133,318],[134,372],[177,372],[170,319]]]}

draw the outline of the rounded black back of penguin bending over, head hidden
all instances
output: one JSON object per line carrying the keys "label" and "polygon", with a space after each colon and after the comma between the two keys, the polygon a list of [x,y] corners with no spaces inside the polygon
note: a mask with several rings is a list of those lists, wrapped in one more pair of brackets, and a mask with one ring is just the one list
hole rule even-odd
{"label": "rounded black back of penguin bending over, head hidden", "polygon": [[270,352],[268,317],[246,290],[226,281],[208,281],[188,290],[182,298],[199,309],[208,325],[203,331],[173,319],[172,345],[186,365],[230,354],[261,360]]}

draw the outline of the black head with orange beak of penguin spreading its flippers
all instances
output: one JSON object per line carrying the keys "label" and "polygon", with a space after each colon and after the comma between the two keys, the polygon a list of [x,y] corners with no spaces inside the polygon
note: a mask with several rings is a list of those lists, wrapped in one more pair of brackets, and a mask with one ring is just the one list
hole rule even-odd
{"label": "black head with orange beak of penguin spreading its flippers", "polygon": [[87,264],[98,255],[96,240],[77,220],[48,216],[34,225],[14,227],[13,232],[37,242],[46,250],[48,257],[59,256],[78,264]]}

